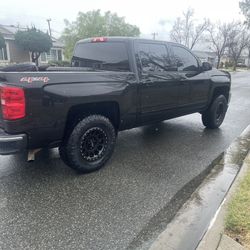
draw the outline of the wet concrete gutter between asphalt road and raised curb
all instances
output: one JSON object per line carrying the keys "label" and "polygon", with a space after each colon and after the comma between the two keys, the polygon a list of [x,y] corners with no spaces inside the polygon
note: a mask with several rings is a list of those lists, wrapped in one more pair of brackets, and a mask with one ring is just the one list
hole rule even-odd
{"label": "wet concrete gutter between asphalt road and raised curb", "polygon": [[215,214],[219,213],[228,190],[241,173],[249,149],[250,125],[213,163],[208,176],[153,242],[150,250],[193,250],[198,247],[216,220]]}

